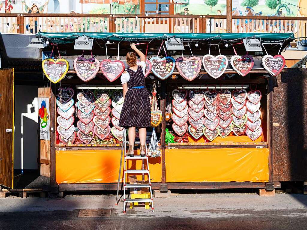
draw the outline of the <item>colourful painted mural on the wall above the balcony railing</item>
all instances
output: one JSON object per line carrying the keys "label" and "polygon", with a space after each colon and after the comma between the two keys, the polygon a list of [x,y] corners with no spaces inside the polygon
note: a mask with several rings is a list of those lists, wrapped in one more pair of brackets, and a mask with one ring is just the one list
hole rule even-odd
{"label": "colourful painted mural on the wall above the balcony railing", "polygon": [[[84,2],[82,4],[82,2]],[[110,14],[111,4],[91,0],[0,0],[0,13],[88,13]],[[108,1],[96,1],[108,2]],[[113,14],[140,14],[139,1],[114,0]],[[176,2],[176,1],[172,1]],[[226,0],[178,0],[174,14],[226,15]],[[306,16],[307,0],[232,0],[233,15]],[[301,7],[299,9],[299,7]]]}

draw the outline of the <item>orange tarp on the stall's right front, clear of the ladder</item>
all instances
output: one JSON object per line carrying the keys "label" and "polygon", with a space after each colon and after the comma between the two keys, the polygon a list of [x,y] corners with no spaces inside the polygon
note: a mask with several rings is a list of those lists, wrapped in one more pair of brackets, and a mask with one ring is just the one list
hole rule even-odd
{"label": "orange tarp on the stall's right front, clear of the ladder", "polygon": [[268,182],[269,149],[166,149],[166,182]]}

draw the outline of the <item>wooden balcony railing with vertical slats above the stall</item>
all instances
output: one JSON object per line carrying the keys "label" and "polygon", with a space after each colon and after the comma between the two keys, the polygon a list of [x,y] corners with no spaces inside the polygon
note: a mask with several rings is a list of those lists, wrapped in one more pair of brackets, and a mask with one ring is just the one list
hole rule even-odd
{"label": "wooden balcony railing with vertical slats above the stall", "polygon": [[[232,16],[232,33],[287,33],[305,37],[307,17]],[[0,14],[1,33],[226,33],[224,15]]]}

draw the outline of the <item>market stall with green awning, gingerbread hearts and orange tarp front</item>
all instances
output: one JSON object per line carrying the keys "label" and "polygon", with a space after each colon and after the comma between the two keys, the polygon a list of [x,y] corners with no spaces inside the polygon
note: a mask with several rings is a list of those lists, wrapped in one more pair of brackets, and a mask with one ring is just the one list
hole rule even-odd
{"label": "market stall with green awning, gingerbread hearts and orange tarp front", "polygon": [[[149,144],[155,135],[159,141],[149,148],[153,189],[274,189],[272,76],[286,68],[280,53],[292,33],[37,36],[52,57],[43,61],[51,192],[117,188],[120,74],[131,42],[146,53],[146,88],[158,105],[147,130]],[[74,49],[78,37],[93,47]]]}

